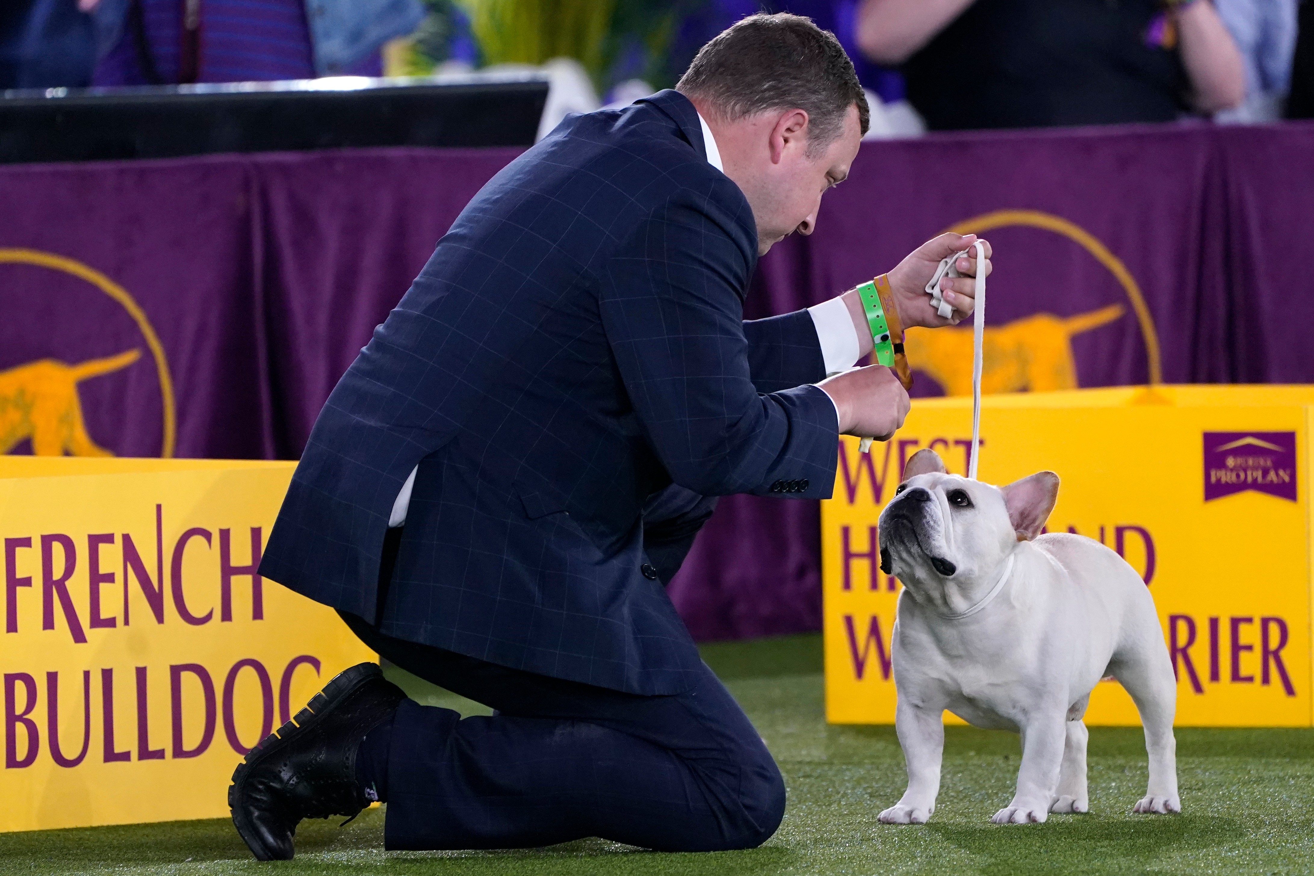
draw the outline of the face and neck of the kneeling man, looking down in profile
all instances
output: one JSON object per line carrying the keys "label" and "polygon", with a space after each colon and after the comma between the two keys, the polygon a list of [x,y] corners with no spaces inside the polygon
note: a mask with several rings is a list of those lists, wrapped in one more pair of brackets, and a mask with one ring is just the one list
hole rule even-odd
{"label": "face and neck of the kneeling man, looking down in profile", "polygon": [[[805,120],[802,110],[792,112]],[[756,162],[745,180],[736,180],[757,221],[758,255],[766,255],[773,244],[795,231],[812,234],[821,196],[849,176],[858,155],[862,142],[858,108],[849,108],[844,131],[813,155],[808,154],[807,134],[805,121],[800,125],[786,113],[771,127],[765,155],[759,152],[766,160]]]}

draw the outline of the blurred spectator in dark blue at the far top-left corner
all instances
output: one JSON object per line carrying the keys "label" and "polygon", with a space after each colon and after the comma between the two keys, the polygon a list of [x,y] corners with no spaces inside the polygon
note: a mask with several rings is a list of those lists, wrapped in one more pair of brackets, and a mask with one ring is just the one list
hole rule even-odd
{"label": "blurred spectator in dark blue at the far top-left corner", "polygon": [[78,0],[0,0],[0,89],[88,85],[95,58]]}

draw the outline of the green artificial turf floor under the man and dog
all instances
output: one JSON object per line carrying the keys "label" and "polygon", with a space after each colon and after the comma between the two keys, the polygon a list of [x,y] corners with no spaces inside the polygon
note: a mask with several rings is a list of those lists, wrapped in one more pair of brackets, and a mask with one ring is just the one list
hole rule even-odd
{"label": "green artificial turf floor under the man and dog", "polygon": [[[347,827],[304,822],[297,859],[260,864],[227,821],[0,834],[3,873],[1309,873],[1314,872],[1314,732],[1177,732],[1184,812],[1131,816],[1144,793],[1139,730],[1091,730],[1091,810],[1043,825],[992,825],[1017,772],[1017,737],[949,728],[943,788],[930,823],[896,827],[876,813],[899,799],[892,728],[827,726],[821,645],[792,636],[704,647],[744,704],[788,784],[784,823],[763,847],[654,854],[599,839],[498,852],[385,852],[382,813]],[[394,674],[394,678],[396,674]],[[397,680],[464,713],[468,700]]]}

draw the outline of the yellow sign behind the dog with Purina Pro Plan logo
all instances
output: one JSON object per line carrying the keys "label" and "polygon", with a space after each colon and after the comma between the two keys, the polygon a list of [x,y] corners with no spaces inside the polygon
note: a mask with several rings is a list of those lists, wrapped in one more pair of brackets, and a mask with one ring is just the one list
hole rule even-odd
{"label": "yellow sign behind the dog with Purina Pro Plan logo", "polygon": [[[1177,672],[1183,726],[1311,726],[1314,386],[1158,386],[983,399],[980,478],[1062,478],[1050,531],[1096,538],[1146,579]],[[971,399],[913,402],[892,440],[844,439],[821,508],[827,717],[892,724],[900,584],[876,519],[904,462],[933,448],[966,474]],[[949,722],[961,722],[946,716]],[[1087,722],[1139,724],[1114,682]]]}

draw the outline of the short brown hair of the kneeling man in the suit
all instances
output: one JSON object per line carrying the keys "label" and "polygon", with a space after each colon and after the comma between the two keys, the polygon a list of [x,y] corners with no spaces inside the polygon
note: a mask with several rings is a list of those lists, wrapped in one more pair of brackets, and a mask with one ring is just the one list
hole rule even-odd
{"label": "short brown hair of the kneeling man in the suit", "polygon": [[867,133],[867,96],[840,41],[811,18],[781,12],[741,18],[703,46],[675,89],[700,97],[727,121],[767,110],[808,114],[808,154],[844,133],[844,117],[858,106]]}

